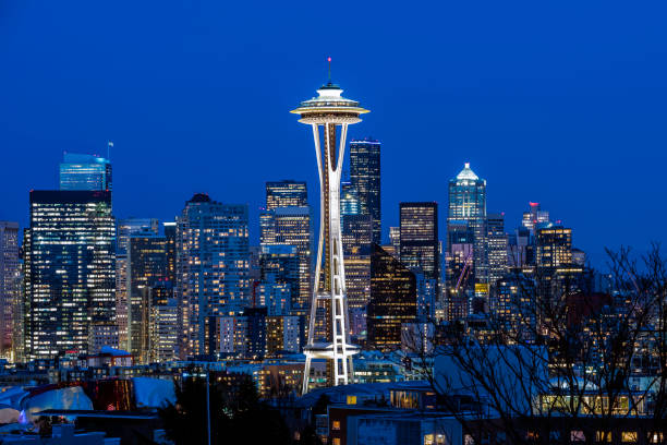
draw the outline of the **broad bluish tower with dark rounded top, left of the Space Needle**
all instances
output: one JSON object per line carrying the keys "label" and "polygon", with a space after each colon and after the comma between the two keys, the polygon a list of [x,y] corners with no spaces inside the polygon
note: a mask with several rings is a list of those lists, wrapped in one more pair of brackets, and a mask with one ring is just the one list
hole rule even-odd
{"label": "broad bluish tower with dark rounded top, left of the Space Needle", "polygon": [[184,338],[181,357],[213,354],[210,317],[239,314],[247,304],[247,206],[206,194],[185,203],[177,220],[177,298]]}

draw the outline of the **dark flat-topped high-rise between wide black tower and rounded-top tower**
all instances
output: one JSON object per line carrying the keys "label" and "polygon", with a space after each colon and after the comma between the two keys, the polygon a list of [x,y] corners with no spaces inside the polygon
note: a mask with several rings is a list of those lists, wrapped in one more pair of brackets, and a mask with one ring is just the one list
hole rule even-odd
{"label": "dark flat-topped high-rise between wide black tower and rounded-top tower", "polygon": [[[156,234],[133,234],[128,245],[128,351],[145,363],[148,361],[148,317],[151,289],[169,280],[167,238]],[[169,288],[170,289],[170,288]]]}

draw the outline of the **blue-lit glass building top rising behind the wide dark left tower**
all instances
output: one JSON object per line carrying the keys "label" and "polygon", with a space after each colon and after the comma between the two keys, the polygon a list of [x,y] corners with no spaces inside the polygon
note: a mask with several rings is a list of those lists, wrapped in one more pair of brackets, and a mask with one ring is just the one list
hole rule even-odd
{"label": "blue-lit glass building top rising behind the wide dark left tower", "polygon": [[111,191],[109,159],[65,153],[60,164],[60,190]]}

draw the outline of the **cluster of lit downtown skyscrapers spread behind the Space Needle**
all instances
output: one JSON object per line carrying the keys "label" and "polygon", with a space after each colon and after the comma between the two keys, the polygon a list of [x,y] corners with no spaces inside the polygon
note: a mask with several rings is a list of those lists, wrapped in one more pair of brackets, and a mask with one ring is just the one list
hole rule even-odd
{"label": "cluster of lit downtown skyscrapers spread behind the Space Needle", "polygon": [[[444,239],[438,203],[404,202],[389,242],[378,242],[380,143],[351,141],[349,165],[340,213],[350,335],[365,348],[400,348],[405,332],[434,320],[502,312],[511,270],[539,274],[543,293],[583,274],[571,229],[531,203],[508,234],[468,164],[449,181]],[[301,351],[315,267],[305,181],[266,182],[257,246],[246,205],[195,194],[162,226],[117,220],[111,184],[110,161],[66,154],[60,190],[31,192],[22,257],[17,226],[3,222],[5,350],[26,360],[109,346],[141,362]]]}

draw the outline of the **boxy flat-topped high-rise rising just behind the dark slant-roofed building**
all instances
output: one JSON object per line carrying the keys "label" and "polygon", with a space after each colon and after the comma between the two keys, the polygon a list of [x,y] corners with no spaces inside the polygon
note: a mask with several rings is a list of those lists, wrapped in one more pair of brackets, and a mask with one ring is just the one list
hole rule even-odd
{"label": "boxy flat-topped high-rise rising just behind the dark slant-roofed building", "polygon": [[401,263],[439,282],[438,204],[400,203],[399,207]]}

